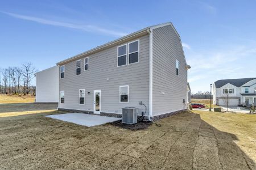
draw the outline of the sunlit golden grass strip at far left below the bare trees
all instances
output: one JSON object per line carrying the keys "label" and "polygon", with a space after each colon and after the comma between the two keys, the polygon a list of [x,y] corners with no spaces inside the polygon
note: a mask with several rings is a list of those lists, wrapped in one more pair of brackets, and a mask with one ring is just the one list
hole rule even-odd
{"label": "sunlit golden grass strip at far left below the bare trees", "polygon": [[3,103],[33,103],[35,96],[32,95],[2,95],[0,94],[0,104]]}

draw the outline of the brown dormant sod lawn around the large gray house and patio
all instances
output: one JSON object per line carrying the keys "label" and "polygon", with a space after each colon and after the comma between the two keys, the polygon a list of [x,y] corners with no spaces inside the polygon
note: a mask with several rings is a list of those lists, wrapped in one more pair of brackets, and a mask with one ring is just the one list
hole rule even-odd
{"label": "brown dormant sod lawn around the large gray house and patio", "polygon": [[129,130],[44,117],[59,113],[1,117],[0,169],[256,169],[255,114],[183,112]]}

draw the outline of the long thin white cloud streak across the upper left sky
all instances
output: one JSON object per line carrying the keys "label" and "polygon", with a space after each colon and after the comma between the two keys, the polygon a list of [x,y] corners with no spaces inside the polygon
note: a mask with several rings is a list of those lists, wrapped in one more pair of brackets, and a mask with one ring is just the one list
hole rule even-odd
{"label": "long thin white cloud streak across the upper left sky", "polygon": [[113,30],[97,27],[95,25],[83,25],[83,24],[72,24],[72,23],[66,23],[66,22],[57,22],[57,21],[43,19],[43,18],[36,18],[36,17],[33,17],[33,16],[19,15],[19,14],[14,14],[14,13],[10,13],[10,12],[3,12],[3,11],[0,11],[0,12],[2,12],[3,14],[6,14],[6,15],[12,16],[14,18],[23,19],[23,20],[30,20],[32,22],[37,22],[37,23],[40,23],[40,24],[54,25],[54,26],[74,28],[74,29],[81,29],[82,31],[98,32],[98,33],[103,33],[105,35],[113,35],[113,36],[125,36],[125,35],[127,35],[127,33],[125,33],[125,32],[113,31]]}

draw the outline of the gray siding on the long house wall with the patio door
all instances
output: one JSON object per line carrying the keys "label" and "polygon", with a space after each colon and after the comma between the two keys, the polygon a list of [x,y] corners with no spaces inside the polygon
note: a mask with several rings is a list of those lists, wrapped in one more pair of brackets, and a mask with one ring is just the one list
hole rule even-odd
{"label": "gray siding on the long house wall with the patio door", "polygon": [[[139,38],[139,63],[117,67],[117,46],[86,57],[89,58],[89,69],[84,71],[85,56],[81,57],[81,75],[76,75],[76,61],[65,64],[64,79],[60,79],[59,88],[60,91],[65,91],[65,99],[64,104],[59,102],[59,108],[93,111],[94,90],[101,90],[101,112],[121,113],[123,107],[137,107],[138,113],[141,113],[145,108],[139,105],[139,101],[148,108],[148,35]],[[129,103],[119,103],[119,86],[125,85],[129,85]],[[79,89],[83,88],[85,104],[80,105]]]}

